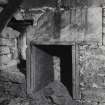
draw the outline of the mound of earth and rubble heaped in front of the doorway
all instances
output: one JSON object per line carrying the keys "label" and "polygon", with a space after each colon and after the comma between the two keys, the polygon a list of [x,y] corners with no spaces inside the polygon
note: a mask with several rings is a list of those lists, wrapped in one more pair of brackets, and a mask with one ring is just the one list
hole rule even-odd
{"label": "mound of earth and rubble heaped in front of the doorway", "polygon": [[80,105],[80,102],[72,100],[65,86],[54,81],[36,93],[13,98],[5,105]]}

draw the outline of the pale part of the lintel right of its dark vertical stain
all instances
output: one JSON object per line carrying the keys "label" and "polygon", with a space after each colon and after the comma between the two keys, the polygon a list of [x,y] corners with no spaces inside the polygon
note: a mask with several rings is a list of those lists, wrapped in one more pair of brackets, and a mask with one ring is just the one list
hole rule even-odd
{"label": "pale part of the lintel right of its dark vertical stain", "polygon": [[[80,8],[77,8],[76,10],[74,9],[74,11],[76,11],[76,16],[72,16],[73,19],[71,20],[71,24],[69,14],[70,11],[66,11],[62,14],[63,27],[60,31],[60,40],[74,42],[97,41],[101,43],[102,9],[100,7],[91,7],[87,10],[85,8],[83,8],[82,10]],[[81,11],[84,17],[81,17]]]}

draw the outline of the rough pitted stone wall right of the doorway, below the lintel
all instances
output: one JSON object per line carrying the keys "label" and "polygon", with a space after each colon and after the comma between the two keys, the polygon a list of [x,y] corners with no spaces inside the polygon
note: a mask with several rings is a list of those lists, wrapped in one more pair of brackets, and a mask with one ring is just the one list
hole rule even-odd
{"label": "rough pitted stone wall right of the doorway, below the lintel", "polygon": [[[105,46],[81,45],[79,51],[80,88],[82,100],[105,101]],[[91,105],[91,104],[89,104]],[[94,103],[92,103],[94,105]]]}

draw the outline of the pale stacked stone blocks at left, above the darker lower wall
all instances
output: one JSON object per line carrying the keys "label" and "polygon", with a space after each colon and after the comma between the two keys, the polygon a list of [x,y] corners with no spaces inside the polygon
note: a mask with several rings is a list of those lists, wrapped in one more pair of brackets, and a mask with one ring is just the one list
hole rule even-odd
{"label": "pale stacked stone blocks at left, above the darker lower wall", "polygon": [[17,37],[19,32],[10,27],[6,27],[0,37],[0,66],[9,65],[18,57]]}

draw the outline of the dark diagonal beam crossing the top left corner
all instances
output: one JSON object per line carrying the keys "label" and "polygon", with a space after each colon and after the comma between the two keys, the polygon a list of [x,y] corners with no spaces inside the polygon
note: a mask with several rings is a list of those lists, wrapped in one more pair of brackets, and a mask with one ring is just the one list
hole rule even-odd
{"label": "dark diagonal beam crossing the top left corner", "polygon": [[8,0],[2,12],[0,12],[0,31],[8,24],[13,14],[19,9],[23,0]]}

